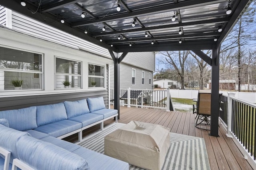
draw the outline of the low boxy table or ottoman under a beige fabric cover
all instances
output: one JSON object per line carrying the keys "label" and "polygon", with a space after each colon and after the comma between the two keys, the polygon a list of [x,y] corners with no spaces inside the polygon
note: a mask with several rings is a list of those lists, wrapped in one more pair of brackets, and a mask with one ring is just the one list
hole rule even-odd
{"label": "low boxy table or ottoman under a beige fabric cover", "polygon": [[105,136],[105,154],[148,170],[161,170],[170,146],[170,129],[131,121]]}

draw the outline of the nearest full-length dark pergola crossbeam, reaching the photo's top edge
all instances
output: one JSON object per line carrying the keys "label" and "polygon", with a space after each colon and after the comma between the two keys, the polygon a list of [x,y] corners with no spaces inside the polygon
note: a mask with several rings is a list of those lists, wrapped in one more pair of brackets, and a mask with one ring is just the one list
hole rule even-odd
{"label": "nearest full-length dark pergola crossbeam, reaching the photo's top edge", "polygon": [[82,22],[76,22],[72,24],[72,27],[79,27],[79,26],[86,26],[91,24],[98,24],[102,22],[111,22],[116,20],[122,20],[127,18],[134,18],[139,16],[145,16],[150,14],[158,14],[161,12],[169,12],[169,11],[175,11],[179,9],[186,9],[186,8],[193,8],[198,5],[210,5],[210,4],[216,4],[220,2],[225,2],[226,0],[192,0],[192,1],[182,1],[177,4],[164,4],[157,7],[152,8],[145,8],[142,10],[136,10],[134,12],[127,12],[122,14],[117,14],[113,16],[106,16],[103,18],[99,18],[99,20],[90,20],[90,21],[82,21]]}

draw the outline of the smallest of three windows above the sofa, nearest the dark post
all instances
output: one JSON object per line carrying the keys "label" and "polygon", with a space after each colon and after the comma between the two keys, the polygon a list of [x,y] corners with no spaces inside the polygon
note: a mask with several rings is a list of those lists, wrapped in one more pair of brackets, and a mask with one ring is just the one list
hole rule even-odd
{"label": "smallest of three windows above the sofa, nearest the dark post", "polygon": [[88,87],[104,87],[104,66],[88,64]]}

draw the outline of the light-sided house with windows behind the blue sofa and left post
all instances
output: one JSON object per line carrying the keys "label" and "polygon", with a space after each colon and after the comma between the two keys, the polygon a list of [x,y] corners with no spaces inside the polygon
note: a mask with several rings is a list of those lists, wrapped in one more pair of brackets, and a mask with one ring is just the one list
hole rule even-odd
{"label": "light-sided house with windows behind the blue sofa and left post", "polygon": [[[92,96],[103,96],[108,106],[114,88],[108,49],[2,6],[0,18],[0,110]],[[153,52],[128,53],[120,65],[120,89],[152,89],[152,60]],[[14,79],[24,81],[19,90],[11,85]]]}

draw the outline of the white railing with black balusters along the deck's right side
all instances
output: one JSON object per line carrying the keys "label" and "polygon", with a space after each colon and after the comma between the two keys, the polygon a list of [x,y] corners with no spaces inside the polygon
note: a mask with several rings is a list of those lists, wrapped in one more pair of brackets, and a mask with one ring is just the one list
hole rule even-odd
{"label": "white railing with black balusters along the deck's right side", "polygon": [[244,158],[256,166],[256,105],[238,98],[235,93],[223,95],[220,121],[234,138]]}

